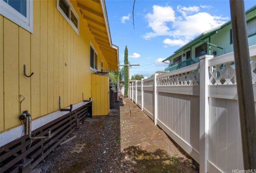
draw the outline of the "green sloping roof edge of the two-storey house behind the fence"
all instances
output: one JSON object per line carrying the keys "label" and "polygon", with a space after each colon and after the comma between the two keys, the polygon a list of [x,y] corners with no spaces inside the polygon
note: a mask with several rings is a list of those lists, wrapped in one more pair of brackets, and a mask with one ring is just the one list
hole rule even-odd
{"label": "green sloping roof edge of the two-storey house behind the fence", "polygon": [[[245,14],[249,14],[250,12],[254,11],[256,9],[256,5],[249,8],[248,10],[245,11]],[[187,49],[190,49],[191,47],[193,47],[194,45],[200,43],[200,40],[205,40],[208,37],[214,35],[215,33],[218,32],[219,29],[222,29],[224,27],[226,27],[227,25],[231,24],[231,20],[227,21],[226,23],[222,24],[219,27],[213,28],[209,31],[203,32],[202,34],[200,34],[199,36],[197,36],[196,38],[194,38],[193,40],[191,40],[190,42],[188,42],[187,44],[185,44],[184,46],[182,46],[181,48],[177,49],[174,54],[172,54],[171,56],[165,58],[162,62],[164,61],[168,61],[170,58],[176,56],[178,53],[183,52]],[[199,40],[200,39],[200,40]]]}

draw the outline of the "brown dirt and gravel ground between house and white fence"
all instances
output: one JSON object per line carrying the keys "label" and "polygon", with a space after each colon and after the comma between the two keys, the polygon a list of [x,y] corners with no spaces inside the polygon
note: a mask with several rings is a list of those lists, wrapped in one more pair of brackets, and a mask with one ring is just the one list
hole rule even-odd
{"label": "brown dirt and gravel ground between house and white fence", "polygon": [[[184,152],[132,101],[129,116],[128,101],[120,98],[117,115],[84,122],[67,139],[77,137],[57,146],[36,168],[42,173],[199,172],[186,165]],[[72,153],[78,144],[83,149]]]}

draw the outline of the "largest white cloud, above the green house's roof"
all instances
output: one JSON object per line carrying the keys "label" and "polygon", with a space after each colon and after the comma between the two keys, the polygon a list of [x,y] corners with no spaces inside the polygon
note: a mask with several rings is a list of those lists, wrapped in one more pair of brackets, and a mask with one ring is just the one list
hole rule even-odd
{"label": "largest white cloud, above the green house's roof", "polygon": [[148,13],[145,18],[148,27],[153,32],[147,32],[142,37],[146,40],[157,36],[169,36],[163,40],[170,46],[182,46],[191,41],[201,33],[222,25],[229,20],[228,17],[211,15],[207,12],[201,12],[204,8],[213,8],[212,6],[177,6],[177,13],[171,6],[153,6],[152,13]]}

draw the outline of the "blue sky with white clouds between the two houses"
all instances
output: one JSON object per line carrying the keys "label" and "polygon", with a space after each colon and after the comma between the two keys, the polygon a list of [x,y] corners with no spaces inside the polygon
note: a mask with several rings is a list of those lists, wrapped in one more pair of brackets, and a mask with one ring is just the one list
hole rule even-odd
{"label": "blue sky with white clouds between the two houses", "polygon": [[[245,1],[245,10],[255,4],[254,0]],[[130,77],[164,71],[168,64],[161,63],[163,59],[202,32],[230,20],[228,0],[136,0],[133,29],[132,6],[133,0],[106,0],[111,39],[119,46],[120,63],[124,64],[127,45],[128,61],[140,64],[130,69]]]}

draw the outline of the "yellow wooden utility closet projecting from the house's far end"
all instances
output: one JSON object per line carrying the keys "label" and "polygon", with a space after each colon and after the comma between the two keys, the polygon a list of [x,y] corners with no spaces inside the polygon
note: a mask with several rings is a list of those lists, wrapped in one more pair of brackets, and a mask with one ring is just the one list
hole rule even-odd
{"label": "yellow wooden utility closet projecting from the house's far end", "polygon": [[92,116],[108,115],[108,76],[92,74]]}

